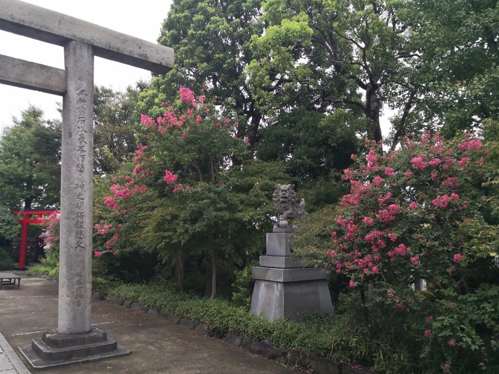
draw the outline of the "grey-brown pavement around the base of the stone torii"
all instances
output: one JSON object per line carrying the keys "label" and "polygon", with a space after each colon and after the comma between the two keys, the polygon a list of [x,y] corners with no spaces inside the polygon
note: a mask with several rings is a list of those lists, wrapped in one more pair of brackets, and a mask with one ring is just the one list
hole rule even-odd
{"label": "grey-brown pavement around the base of the stone torii", "polygon": [[[106,331],[111,338],[131,349],[132,354],[40,373],[303,373],[219,339],[200,336],[161,317],[150,317],[106,301],[92,302],[92,326]],[[0,374],[37,373],[21,357],[17,347],[30,344],[31,339],[41,337],[43,331],[56,327],[57,285],[40,278],[23,277],[19,290],[4,287],[0,291],[0,336],[4,337],[0,337]]]}

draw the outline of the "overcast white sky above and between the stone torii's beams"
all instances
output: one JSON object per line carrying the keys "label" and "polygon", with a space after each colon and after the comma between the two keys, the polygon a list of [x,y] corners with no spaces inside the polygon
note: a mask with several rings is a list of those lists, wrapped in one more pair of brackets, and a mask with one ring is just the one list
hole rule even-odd
{"label": "overcast white sky above and between the stone torii's beams", "polygon": [[[172,0],[25,0],[60,13],[84,19],[156,43]],[[0,54],[64,69],[63,48],[0,30]],[[149,80],[147,70],[95,57],[96,85],[124,89],[141,79]],[[56,111],[62,97],[0,84],[0,131],[11,125],[12,116],[29,104],[40,107],[45,119],[60,118]]]}

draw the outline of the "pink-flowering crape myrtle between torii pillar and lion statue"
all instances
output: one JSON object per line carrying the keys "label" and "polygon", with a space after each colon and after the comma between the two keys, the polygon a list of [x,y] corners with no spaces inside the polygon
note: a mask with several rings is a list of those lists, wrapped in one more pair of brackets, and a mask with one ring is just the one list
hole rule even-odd
{"label": "pink-flowering crape myrtle between torii pillar and lion statue", "polygon": [[97,246],[104,250],[95,256],[156,250],[175,264],[179,285],[185,260],[201,256],[210,260],[215,298],[219,259],[237,258],[234,266],[246,266],[249,250],[257,247],[255,239],[244,244],[248,232],[270,225],[269,180],[285,176],[271,163],[234,165],[232,157],[244,159],[249,140],[238,138],[238,124],[188,88],[181,87],[179,101],[152,108],[141,120],[134,162],[111,177],[113,194],[102,201],[107,211],[96,217]]}

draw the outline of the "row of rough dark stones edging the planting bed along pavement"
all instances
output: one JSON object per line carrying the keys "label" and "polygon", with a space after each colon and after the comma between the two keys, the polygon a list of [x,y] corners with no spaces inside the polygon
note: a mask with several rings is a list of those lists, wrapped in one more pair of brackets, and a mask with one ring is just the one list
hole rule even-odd
{"label": "row of rough dark stones edging the planting bed along pavement", "polygon": [[325,357],[310,356],[307,358],[302,352],[285,349],[281,351],[274,347],[268,340],[254,342],[250,338],[241,338],[235,334],[227,333],[219,328],[210,329],[204,323],[194,323],[188,318],[180,318],[169,311],[160,311],[155,307],[143,306],[140,303],[113,296],[105,298],[99,291],[92,291],[92,300],[106,300],[109,303],[125,308],[138,309],[152,317],[162,317],[175,325],[194,330],[197,334],[224,340],[227,344],[241,347],[252,354],[262,356],[269,360],[281,358],[284,363],[291,367],[300,369],[311,369],[312,373],[317,374],[376,374],[360,365],[342,365]]}

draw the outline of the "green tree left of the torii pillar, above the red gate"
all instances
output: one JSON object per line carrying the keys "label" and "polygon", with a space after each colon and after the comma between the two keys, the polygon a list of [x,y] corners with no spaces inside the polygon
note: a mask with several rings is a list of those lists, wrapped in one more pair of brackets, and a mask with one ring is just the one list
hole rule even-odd
{"label": "green tree left of the torii pillar, above the red gate", "polygon": [[61,124],[33,106],[0,139],[0,200],[11,208],[59,203]]}

